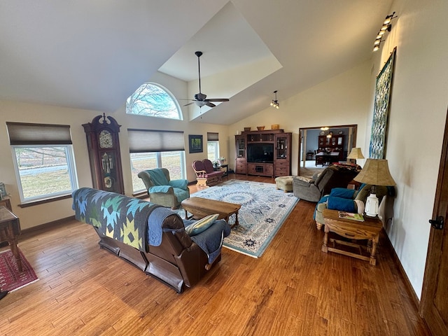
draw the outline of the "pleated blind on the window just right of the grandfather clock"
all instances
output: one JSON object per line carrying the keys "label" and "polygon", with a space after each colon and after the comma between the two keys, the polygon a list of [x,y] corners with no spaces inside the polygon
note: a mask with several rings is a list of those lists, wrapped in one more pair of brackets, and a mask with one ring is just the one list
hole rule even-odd
{"label": "pleated blind on the window just right of the grandfather clock", "polygon": [[185,151],[183,132],[127,129],[130,153]]}

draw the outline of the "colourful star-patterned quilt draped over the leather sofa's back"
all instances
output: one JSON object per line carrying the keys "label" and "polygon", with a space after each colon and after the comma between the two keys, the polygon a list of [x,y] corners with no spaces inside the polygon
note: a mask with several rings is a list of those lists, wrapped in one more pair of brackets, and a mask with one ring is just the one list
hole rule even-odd
{"label": "colourful star-patterned quilt draped over the leather sofa's back", "polygon": [[[72,196],[73,210],[78,221],[93,225],[106,237],[148,252],[148,217],[160,206],[92,188],[80,188]],[[162,222],[158,224],[161,237]]]}

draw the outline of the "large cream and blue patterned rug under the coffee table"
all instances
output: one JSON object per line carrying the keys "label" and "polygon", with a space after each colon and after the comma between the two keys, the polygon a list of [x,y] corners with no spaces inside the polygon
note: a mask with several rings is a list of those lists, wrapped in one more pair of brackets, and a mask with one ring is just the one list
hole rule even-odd
{"label": "large cream and blue patterned rug under the coffee table", "polygon": [[[298,202],[293,193],[277,190],[273,183],[241,180],[226,181],[191,197],[241,204],[239,225],[225,237],[223,246],[253,258],[260,258]],[[185,218],[183,209],[179,214]],[[235,223],[235,215],[230,223]]]}

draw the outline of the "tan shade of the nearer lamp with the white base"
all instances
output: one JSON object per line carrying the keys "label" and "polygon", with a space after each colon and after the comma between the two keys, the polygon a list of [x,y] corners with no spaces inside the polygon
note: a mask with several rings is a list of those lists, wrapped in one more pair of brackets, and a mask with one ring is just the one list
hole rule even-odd
{"label": "tan shade of the nearer lamp with the white base", "polygon": [[363,170],[353,179],[372,186],[395,186],[387,160],[367,159]]}

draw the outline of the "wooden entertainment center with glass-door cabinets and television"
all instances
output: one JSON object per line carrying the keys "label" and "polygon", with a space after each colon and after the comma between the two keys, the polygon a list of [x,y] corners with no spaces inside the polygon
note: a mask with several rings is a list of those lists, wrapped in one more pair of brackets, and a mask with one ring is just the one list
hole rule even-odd
{"label": "wooden entertainment center with glass-door cabinets and television", "polygon": [[291,174],[292,133],[283,130],[241,132],[235,135],[235,173],[259,176]]}

